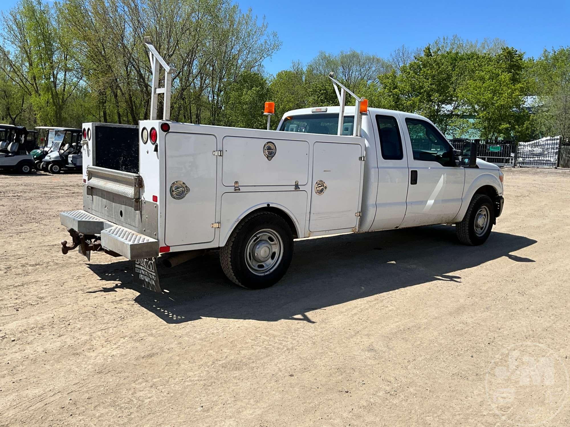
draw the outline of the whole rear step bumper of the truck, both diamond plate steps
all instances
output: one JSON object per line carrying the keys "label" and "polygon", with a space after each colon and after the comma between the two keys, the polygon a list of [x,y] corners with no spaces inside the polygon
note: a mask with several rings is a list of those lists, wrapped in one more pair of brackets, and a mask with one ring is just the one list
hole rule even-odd
{"label": "whole rear step bumper of the truck, both diamond plate steps", "polygon": [[141,235],[128,228],[105,221],[86,211],[61,212],[62,225],[84,235],[101,235],[103,249],[118,253],[129,260],[158,256],[158,240]]}

